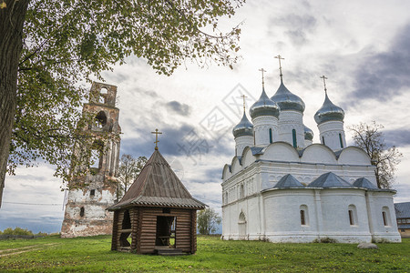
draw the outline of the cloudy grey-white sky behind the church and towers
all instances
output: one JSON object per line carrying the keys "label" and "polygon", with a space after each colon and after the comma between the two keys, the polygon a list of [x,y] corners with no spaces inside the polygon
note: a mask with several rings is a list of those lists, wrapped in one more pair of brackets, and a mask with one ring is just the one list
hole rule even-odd
{"label": "cloudy grey-white sky behind the church and towers", "polygon": [[[376,121],[385,141],[404,157],[396,171],[395,202],[410,201],[410,9],[409,1],[254,1],[221,29],[241,26],[241,60],[231,70],[187,63],[173,76],[157,75],[143,59],[129,57],[103,75],[118,86],[121,153],[149,157],[155,128],[163,132],[159,151],[194,197],[220,212],[220,177],[234,156],[231,128],[241,118],[241,94],[248,106],[261,95],[261,67],[272,96],[279,86],[281,55],[285,85],[301,96],[303,122],[319,131],[314,113],[328,94],[345,112],[347,126]],[[352,142],[350,141],[350,144]],[[64,193],[53,167],[20,168],[6,177],[0,230],[28,227],[56,232]],[[20,204],[24,203],[24,204]],[[33,205],[27,205],[33,204]]]}

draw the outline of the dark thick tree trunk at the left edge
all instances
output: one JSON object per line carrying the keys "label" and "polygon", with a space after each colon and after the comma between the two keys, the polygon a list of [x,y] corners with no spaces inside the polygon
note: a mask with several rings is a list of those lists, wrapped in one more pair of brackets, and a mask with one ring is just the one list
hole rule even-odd
{"label": "dark thick tree trunk at the left edge", "polygon": [[28,3],[29,0],[5,0],[6,7],[0,9],[0,207],[15,117],[17,69]]}

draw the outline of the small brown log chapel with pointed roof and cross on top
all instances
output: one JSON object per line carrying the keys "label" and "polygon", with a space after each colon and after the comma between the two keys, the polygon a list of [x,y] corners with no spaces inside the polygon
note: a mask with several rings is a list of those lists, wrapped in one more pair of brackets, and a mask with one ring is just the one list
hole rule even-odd
{"label": "small brown log chapel with pointed roof and cross on top", "polygon": [[190,195],[156,146],[124,197],[108,207],[114,211],[111,250],[193,254],[197,210],[205,207]]}

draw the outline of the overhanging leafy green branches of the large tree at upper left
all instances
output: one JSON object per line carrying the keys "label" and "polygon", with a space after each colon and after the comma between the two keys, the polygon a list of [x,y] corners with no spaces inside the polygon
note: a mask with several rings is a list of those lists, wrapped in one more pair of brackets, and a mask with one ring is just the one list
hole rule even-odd
{"label": "overhanging leafy green branches of the large tree at upper left", "polygon": [[25,17],[9,173],[44,159],[67,181],[78,160],[72,147],[87,138],[81,128],[89,122],[81,119],[79,107],[87,92],[78,83],[89,83],[90,76],[102,80],[101,71],[123,64],[127,56],[143,58],[167,76],[186,61],[232,66],[238,59],[241,29],[222,34],[218,25],[220,17],[231,17],[242,4],[243,0],[32,0],[26,15],[13,14],[13,5],[6,5],[10,16]]}

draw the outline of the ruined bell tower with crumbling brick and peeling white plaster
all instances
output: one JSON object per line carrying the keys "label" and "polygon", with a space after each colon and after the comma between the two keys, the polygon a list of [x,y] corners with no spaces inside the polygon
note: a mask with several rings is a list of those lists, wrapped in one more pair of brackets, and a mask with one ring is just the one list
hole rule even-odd
{"label": "ruined bell tower with crumbling brick and peeling white plaster", "polygon": [[111,234],[113,215],[106,208],[117,199],[121,133],[116,96],[117,86],[93,82],[83,107],[89,122],[82,131],[91,137],[74,147],[73,154],[83,162],[77,168],[83,172],[68,183],[62,238]]}

